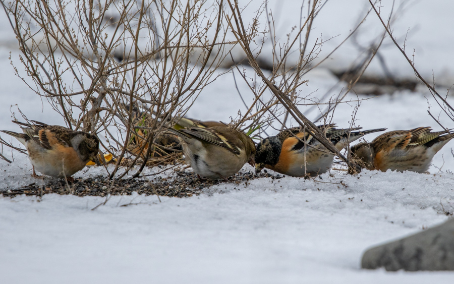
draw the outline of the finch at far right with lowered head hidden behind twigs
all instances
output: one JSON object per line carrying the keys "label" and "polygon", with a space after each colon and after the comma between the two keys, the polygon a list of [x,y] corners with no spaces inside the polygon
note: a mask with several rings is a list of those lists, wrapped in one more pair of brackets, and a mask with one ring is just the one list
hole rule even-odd
{"label": "finch at far right with lowered head hidden behind twigs", "polygon": [[433,156],[452,139],[453,132],[430,127],[386,132],[370,143],[354,145],[352,155],[367,169],[426,173]]}

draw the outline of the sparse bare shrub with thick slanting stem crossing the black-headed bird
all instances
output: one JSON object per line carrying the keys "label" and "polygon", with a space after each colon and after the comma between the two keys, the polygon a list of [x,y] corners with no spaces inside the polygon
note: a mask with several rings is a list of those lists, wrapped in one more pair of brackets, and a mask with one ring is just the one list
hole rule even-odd
{"label": "sparse bare shrub with thick slanting stem crossing the black-headed bird", "polygon": [[[242,16],[243,8],[240,7],[238,1],[227,0],[227,2],[230,11],[226,13],[226,21],[239,45],[245,52],[249,65],[254,69],[259,78],[259,80],[254,81],[254,84],[248,83],[251,91],[255,94],[256,104],[259,105],[256,106],[256,112],[251,117],[263,116],[266,117],[263,120],[265,122],[277,121],[280,124],[280,130],[287,128],[286,122],[289,117],[292,117],[297,125],[304,126],[313,133],[314,137],[325,146],[327,151],[336,153],[354,172],[360,172],[361,168],[337,151],[312,121],[322,120],[323,123],[332,122],[332,112],[336,105],[341,103],[347,94],[353,90],[355,84],[374,58],[385,34],[382,33],[377,36],[377,39],[371,43],[369,52],[362,56],[359,64],[352,64],[352,70],[355,72],[349,73],[351,74],[351,78],[347,88],[337,95],[325,94],[319,99],[314,100],[309,95],[304,95],[304,89],[302,87],[307,83],[304,75],[319,66],[338,48],[334,48],[326,56],[319,58],[321,56],[322,45],[325,41],[321,38],[316,38],[315,41],[310,40],[309,35],[312,25],[317,15],[321,13],[324,4],[320,1],[303,2],[299,27],[291,27],[287,37],[284,40],[279,40],[275,36],[275,21],[272,17],[272,12],[267,9],[266,2],[262,6],[262,13],[257,13],[253,19],[245,19]],[[303,15],[303,11],[306,10],[307,14]],[[369,9],[367,11],[364,18],[359,21],[358,25],[341,44],[357,32],[359,26],[364,22],[364,19],[369,15],[371,10]],[[256,34],[255,31],[258,29],[257,26],[260,22],[266,22],[267,30],[263,33],[268,34],[269,40],[272,43],[271,51],[268,53],[265,53],[266,51],[262,49],[263,43],[266,40],[261,40],[261,45],[259,46],[254,44],[258,40],[252,35]],[[294,60],[295,56],[292,57],[292,60],[291,54],[298,54],[297,60]],[[272,64],[269,68],[270,72],[263,70],[260,56],[262,58],[272,59]],[[240,71],[240,74],[243,73]],[[247,76],[243,76],[243,79],[245,82],[251,81],[251,78],[247,78]],[[267,92],[271,93],[271,96],[265,98],[264,94]],[[316,113],[315,118],[308,119],[301,111],[302,107],[305,107],[306,110],[315,110],[318,114]],[[331,115],[329,116],[330,113]],[[245,118],[248,118],[248,115],[249,113],[245,115]],[[353,123],[354,119],[351,122],[351,126],[353,126]],[[262,128],[262,130],[264,129],[266,127]]]}

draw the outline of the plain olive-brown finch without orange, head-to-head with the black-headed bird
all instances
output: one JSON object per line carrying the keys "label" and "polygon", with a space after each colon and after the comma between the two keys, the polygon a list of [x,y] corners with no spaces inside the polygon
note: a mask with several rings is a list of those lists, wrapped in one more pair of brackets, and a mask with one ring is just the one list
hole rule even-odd
{"label": "plain olive-brown finch without orange, head-to-head with the black-headed bird", "polygon": [[255,144],[252,139],[228,126],[183,128],[180,119],[169,131],[183,141],[186,162],[199,177],[227,180],[246,162],[254,164]]}

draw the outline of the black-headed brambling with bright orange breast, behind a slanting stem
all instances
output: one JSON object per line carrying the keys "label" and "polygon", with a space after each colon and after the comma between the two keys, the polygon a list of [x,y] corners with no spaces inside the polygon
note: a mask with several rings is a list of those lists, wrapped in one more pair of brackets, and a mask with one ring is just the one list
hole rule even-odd
{"label": "black-headed brambling with bright orange breast, behind a slanting stem", "polygon": [[[318,126],[339,151],[363,135],[386,129],[355,131],[361,127],[349,129],[334,127],[334,124]],[[266,167],[292,177],[317,176],[328,171],[333,158],[334,153],[317,141],[307,128],[295,127],[283,130],[276,136],[267,137],[257,144],[255,169],[257,174]]]}

